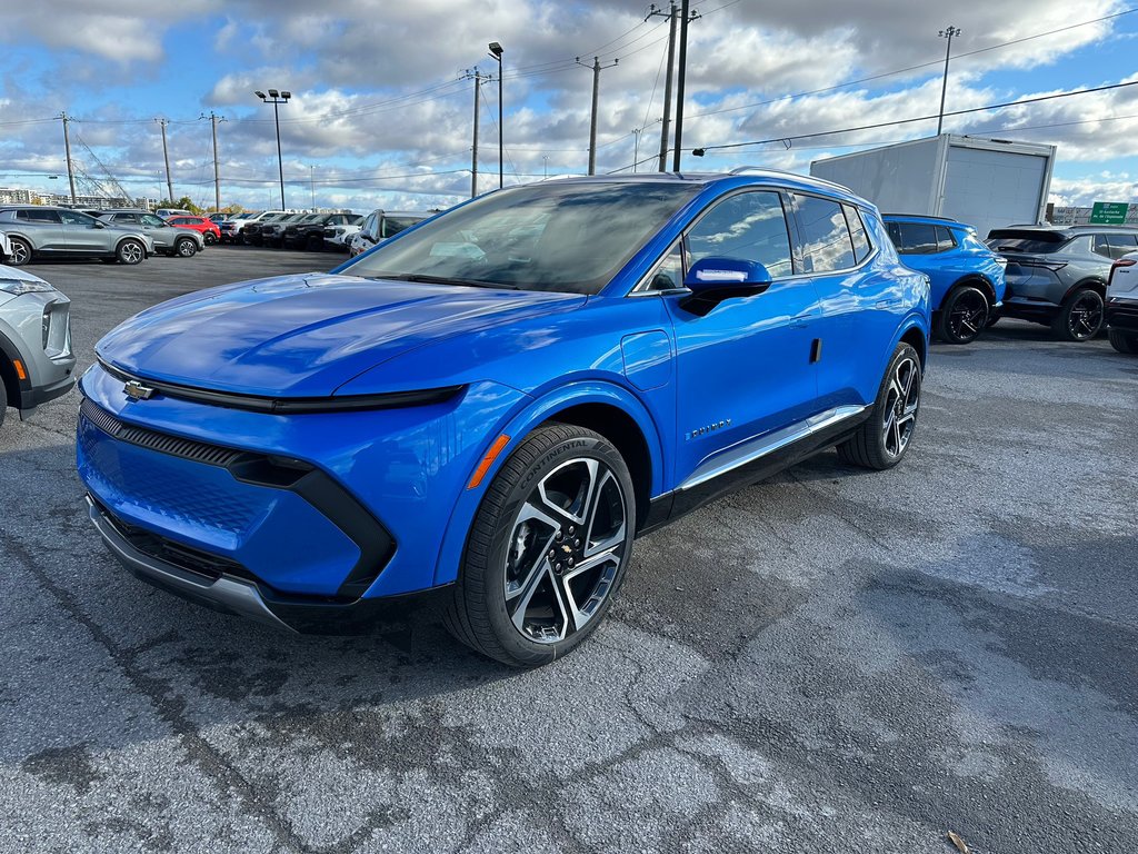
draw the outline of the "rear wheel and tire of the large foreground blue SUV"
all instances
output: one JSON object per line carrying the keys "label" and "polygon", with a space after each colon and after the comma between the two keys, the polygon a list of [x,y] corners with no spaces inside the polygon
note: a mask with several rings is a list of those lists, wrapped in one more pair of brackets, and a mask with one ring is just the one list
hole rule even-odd
{"label": "rear wheel and tire of the large foreground blue SUV", "polygon": [[889,360],[869,418],[838,445],[842,462],[884,471],[904,459],[921,412],[921,359],[902,342]]}

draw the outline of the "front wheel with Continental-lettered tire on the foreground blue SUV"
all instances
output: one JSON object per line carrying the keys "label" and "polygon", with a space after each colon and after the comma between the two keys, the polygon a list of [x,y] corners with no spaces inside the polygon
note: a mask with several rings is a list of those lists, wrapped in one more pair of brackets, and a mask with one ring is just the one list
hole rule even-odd
{"label": "front wheel with Continental-lettered tire on the foreground blue SUV", "polygon": [[[571,485],[580,476],[591,478],[592,491]],[[585,527],[574,526],[574,507]],[[539,427],[486,487],[444,613],[447,629],[514,667],[561,658],[592,634],[620,589],[635,520],[632,477],[608,440],[572,425]],[[599,525],[604,533],[597,536],[607,540],[591,539]],[[566,605],[577,615],[572,621]]]}

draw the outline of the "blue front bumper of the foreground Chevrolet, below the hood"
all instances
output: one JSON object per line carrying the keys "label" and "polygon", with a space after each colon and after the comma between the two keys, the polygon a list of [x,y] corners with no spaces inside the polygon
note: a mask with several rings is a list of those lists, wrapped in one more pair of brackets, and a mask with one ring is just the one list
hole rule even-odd
{"label": "blue front bumper of the foreground Chevrolet, below the hood", "polygon": [[[351,622],[374,599],[453,580],[437,568],[455,502],[521,396],[483,384],[429,405],[270,414],[160,393],[132,402],[98,364],[81,387],[80,476],[118,539],[159,561],[148,580],[265,622],[253,585],[294,627]],[[192,584],[171,582],[165,564]]]}

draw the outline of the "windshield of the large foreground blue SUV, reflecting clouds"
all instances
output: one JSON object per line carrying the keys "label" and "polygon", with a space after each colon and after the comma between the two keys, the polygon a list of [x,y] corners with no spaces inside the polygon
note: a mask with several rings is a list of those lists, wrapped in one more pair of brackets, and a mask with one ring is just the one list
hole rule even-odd
{"label": "windshield of the large foreground blue SUV, reflecting clouds", "polygon": [[498,191],[381,244],[345,272],[596,294],[699,190],[564,182]]}

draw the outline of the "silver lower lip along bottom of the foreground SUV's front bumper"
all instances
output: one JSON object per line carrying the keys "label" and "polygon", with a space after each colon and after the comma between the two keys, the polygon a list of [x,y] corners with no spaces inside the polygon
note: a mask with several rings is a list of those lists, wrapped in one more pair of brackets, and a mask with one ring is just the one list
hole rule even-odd
{"label": "silver lower lip along bottom of the foreground SUV's front bumper", "polygon": [[167,564],[165,560],[143,555],[115,531],[99,512],[99,508],[94,506],[90,496],[86,496],[85,500],[91,522],[99,535],[102,536],[102,541],[123,566],[140,578],[152,581],[157,585],[181,593],[189,599],[208,600],[223,610],[255,619],[258,623],[269,623],[278,629],[296,632],[292,626],[269,610],[255,585],[225,575],[211,583],[173,564]]}

